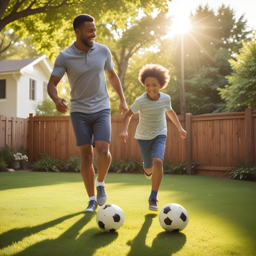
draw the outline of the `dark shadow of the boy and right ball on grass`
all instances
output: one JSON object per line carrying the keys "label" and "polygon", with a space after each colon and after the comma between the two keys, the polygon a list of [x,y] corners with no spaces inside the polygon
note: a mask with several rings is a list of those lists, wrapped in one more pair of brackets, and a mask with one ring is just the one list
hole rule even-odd
{"label": "dark shadow of the boy and right ball on grass", "polygon": [[152,224],[153,218],[157,217],[157,214],[147,214],[145,216],[145,222],[141,227],[138,235],[133,241],[128,242],[131,249],[128,256],[170,256],[173,253],[179,251],[186,243],[186,236],[182,233],[162,232],[157,235],[153,240],[152,247],[148,247],[146,243],[146,235],[148,229]]}

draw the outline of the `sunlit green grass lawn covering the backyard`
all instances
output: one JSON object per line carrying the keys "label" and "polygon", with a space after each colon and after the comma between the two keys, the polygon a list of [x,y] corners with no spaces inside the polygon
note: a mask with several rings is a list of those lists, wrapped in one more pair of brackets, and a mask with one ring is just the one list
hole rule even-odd
{"label": "sunlit green grass lawn covering the backyard", "polygon": [[168,233],[148,210],[151,181],[141,174],[106,178],[108,203],[124,211],[117,232],[104,233],[79,173],[0,173],[0,255],[256,255],[256,183],[164,175],[159,206],[181,204],[189,224]]}

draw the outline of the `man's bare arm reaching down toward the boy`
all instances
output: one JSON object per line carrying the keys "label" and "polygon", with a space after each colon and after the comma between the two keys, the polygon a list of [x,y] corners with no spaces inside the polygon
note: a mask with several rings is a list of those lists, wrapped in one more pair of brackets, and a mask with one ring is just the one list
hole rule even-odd
{"label": "man's bare arm reaching down toward the boy", "polygon": [[105,73],[108,77],[108,81],[110,82],[111,86],[114,88],[114,90],[117,92],[117,95],[120,99],[120,104],[119,104],[119,110],[121,114],[125,115],[126,112],[128,111],[128,106],[125,101],[123,89],[119,80],[119,77],[117,76],[116,72],[114,69],[112,70],[105,70]]}

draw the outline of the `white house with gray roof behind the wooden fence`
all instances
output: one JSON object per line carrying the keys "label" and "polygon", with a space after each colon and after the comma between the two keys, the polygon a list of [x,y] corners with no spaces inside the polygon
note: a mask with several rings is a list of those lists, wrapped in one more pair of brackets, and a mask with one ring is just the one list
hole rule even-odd
{"label": "white house with gray roof behind the wooden fence", "polygon": [[47,97],[52,67],[46,56],[0,61],[0,115],[27,118]]}

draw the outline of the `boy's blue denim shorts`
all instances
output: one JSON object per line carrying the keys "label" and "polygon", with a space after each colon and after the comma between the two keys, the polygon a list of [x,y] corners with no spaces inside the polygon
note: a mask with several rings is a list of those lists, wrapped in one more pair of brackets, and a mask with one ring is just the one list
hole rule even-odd
{"label": "boy's blue denim shorts", "polygon": [[138,139],[138,144],[145,168],[153,166],[153,158],[159,157],[164,161],[166,135],[158,135],[154,139]]}

